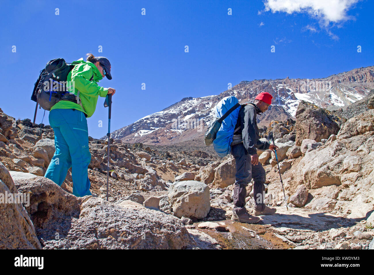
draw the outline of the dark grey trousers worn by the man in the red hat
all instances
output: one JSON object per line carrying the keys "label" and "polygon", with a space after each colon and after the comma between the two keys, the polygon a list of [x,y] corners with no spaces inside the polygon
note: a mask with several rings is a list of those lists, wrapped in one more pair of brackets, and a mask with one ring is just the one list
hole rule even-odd
{"label": "dark grey trousers worn by the man in the red hat", "polygon": [[236,162],[235,186],[234,186],[234,207],[237,215],[245,213],[246,186],[253,178],[253,195],[255,209],[262,211],[265,208],[265,186],[266,172],[260,162],[257,165],[251,164],[251,155],[245,153],[242,143],[232,146],[231,153]]}

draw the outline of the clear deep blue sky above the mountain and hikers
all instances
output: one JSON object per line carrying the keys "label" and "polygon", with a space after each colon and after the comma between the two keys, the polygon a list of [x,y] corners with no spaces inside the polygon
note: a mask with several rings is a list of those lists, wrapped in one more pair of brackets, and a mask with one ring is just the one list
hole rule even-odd
{"label": "clear deep blue sky above the mountain and hikers", "polygon": [[[1,1],[0,108],[32,119],[30,96],[46,62],[87,53],[112,65],[113,79],[99,83],[116,89],[111,131],[184,97],[220,94],[229,82],[312,79],[374,65],[373,1],[305,2]],[[103,102],[88,119],[95,138],[107,132]],[[38,110],[37,123],[42,116]]]}

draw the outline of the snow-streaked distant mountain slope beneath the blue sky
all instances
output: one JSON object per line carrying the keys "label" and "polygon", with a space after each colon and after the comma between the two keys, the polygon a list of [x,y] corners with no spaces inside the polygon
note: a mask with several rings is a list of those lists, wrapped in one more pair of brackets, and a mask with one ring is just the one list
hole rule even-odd
{"label": "snow-streaked distant mountain slope beneath the blue sky", "polygon": [[[143,117],[111,133],[124,142],[174,144],[201,137],[214,116],[213,107],[222,98],[236,96],[241,103],[260,92],[273,95],[273,105],[261,116],[259,125],[295,117],[300,100],[323,108],[349,106],[374,88],[374,67],[358,68],[322,79],[261,79],[242,81],[219,95],[183,98],[162,111]],[[103,137],[105,139],[105,137]]]}

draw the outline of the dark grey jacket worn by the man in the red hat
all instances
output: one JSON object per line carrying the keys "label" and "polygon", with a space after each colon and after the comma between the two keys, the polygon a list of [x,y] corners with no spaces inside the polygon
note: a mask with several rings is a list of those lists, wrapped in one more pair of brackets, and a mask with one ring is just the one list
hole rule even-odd
{"label": "dark grey jacket worn by the man in the red hat", "polygon": [[[260,130],[257,127],[257,114],[261,113],[260,108],[253,103],[246,103],[247,105],[242,107],[239,111],[239,117],[235,129],[239,129],[234,132],[234,138],[237,134],[242,134],[243,145],[246,152],[249,155],[257,154],[257,149],[267,150],[269,149],[270,143],[267,141],[260,141]],[[236,143],[236,142],[235,142]],[[235,144],[233,142],[233,145]]]}

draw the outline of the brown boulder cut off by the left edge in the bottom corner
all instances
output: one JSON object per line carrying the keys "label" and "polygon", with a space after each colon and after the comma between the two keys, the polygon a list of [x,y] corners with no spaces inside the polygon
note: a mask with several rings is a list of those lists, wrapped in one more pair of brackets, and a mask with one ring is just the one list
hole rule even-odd
{"label": "brown boulder cut off by the left edge in the bottom corner", "polygon": [[27,205],[27,194],[18,193],[9,171],[0,162],[0,249],[42,248],[22,202]]}

